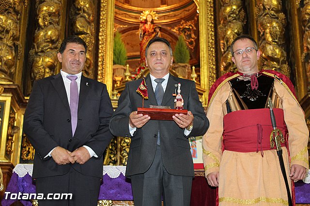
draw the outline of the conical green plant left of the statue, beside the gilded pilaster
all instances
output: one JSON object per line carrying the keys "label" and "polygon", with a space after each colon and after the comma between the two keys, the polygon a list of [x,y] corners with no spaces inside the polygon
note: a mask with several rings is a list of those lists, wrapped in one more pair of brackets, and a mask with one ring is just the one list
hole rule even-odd
{"label": "conical green plant left of the statue, beside the gilded pilaster", "polygon": [[121,33],[116,31],[113,44],[113,64],[125,66],[127,61],[127,52],[125,44],[121,38]]}

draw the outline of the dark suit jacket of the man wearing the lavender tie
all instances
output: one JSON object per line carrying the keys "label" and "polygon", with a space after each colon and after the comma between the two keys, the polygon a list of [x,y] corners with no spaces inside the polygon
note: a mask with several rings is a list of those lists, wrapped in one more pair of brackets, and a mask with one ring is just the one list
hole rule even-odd
{"label": "dark suit jacket of the man wearing the lavender tie", "polygon": [[[74,167],[86,176],[102,178],[103,153],[109,145],[109,119],[113,109],[105,84],[81,76],[78,125],[72,137],[71,114],[62,75],[57,74],[33,84],[24,117],[24,132],[35,148],[33,178],[64,175]],[[98,158],[84,164],[58,165],[44,158],[54,147],[74,151],[89,146]]]}

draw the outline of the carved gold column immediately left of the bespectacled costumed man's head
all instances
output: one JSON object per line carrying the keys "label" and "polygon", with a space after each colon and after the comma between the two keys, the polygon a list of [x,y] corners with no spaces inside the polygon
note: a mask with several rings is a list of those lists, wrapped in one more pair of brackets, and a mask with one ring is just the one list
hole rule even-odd
{"label": "carved gold column immediately left of the bespectacled costumed man's head", "polygon": [[218,38],[223,55],[220,71],[221,74],[226,74],[231,71],[237,71],[229,48],[233,40],[243,33],[246,13],[242,8],[242,0],[221,0],[220,2]]}

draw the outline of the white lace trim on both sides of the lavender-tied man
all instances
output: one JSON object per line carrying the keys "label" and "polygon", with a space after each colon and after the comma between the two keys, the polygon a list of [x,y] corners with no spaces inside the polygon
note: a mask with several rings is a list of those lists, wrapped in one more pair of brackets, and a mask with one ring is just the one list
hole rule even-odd
{"label": "white lace trim on both sides of the lavender-tied man", "polygon": [[[17,164],[13,169],[18,177],[25,177],[29,174],[32,176],[33,164]],[[111,178],[117,178],[121,173],[125,176],[126,166],[103,166],[102,175],[108,174]]]}

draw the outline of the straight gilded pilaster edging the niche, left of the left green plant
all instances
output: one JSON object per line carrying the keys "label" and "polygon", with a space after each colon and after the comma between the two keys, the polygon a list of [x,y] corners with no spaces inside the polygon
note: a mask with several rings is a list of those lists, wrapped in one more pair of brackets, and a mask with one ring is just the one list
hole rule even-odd
{"label": "straight gilded pilaster edging the niche, left of the left green plant", "polygon": [[114,0],[100,0],[99,51],[97,80],[112,94]]}

